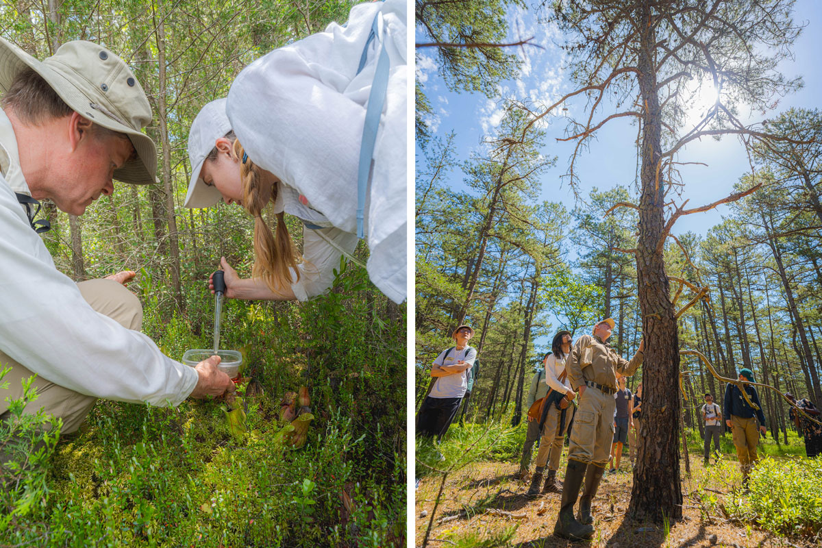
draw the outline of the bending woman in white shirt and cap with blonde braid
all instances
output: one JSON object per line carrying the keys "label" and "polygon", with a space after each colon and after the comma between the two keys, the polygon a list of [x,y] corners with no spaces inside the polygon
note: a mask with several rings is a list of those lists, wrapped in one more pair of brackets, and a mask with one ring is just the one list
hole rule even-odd
{"label": "bending woman in white shirt and cap with blonde braid", "polygon": [[[365,238],[372,282],[404,301],[406,26],[400,0],[358,4],[346,25],[252,62],[227,99],[197,115],[185,205],[210,207],[222,196],[255,219],[252,278],[240,279],[222,258],[225,297],[322,295],[340,256],[350,258]],[[276,235],[262,216],[269,204]],[[302,221],[302,256],[285,213]]]}

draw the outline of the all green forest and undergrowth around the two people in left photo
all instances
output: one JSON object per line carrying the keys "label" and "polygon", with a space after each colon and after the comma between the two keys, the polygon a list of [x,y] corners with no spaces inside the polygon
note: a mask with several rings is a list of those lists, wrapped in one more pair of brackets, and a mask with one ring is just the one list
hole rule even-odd
{"label": "all green forest and undergrowth around the two people in left photo", "polygon": [[[207,282],[219,258],[243,277],[253,264],[253,223],[241,207],[182,208],[194,117],[224,97],[249,62],[330,21],[344,23],[355,3],[0,6],[2,36],[35,58],[90,40],[123,58],[148,95],[159,184],[114,182],[113,195],[81,217],[47,202],[53,228],[43,238],[58,269],[77,281],[135,270],[128,287],[143,302],[143,329],[169,356],[210,348]],[[302,224],[287,220],[301,247]],[[364,261],[367,246],[355,255]],[[16,472],[15,489],[4,489],[0,544],[404,544],[405,306],[384,297],[364,269],[343,262],[338,271],[330,293],[312,302],[224,303],[221,348],[241,350],[251,378],[244,437],[231,435],[219,402],[177,410],[100,402],[79,437],[62,440],[45,463]],[[315,419],[307,445],[291,450],[279,402],[300,386]]]}

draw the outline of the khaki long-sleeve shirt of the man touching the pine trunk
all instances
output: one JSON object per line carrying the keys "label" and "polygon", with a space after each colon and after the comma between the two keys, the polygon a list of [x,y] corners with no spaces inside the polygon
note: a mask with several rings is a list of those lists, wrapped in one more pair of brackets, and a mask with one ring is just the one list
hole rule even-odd
{"label": "khaki long-sleeve shirt of the man touching the pine trunk", "polygon": [[608,343],[596,335],[583,335],[570,349],[568,380],[571,388],[579,389],[586,380],[617,389],[617,371],[630,376],[642,365],[642,352],[636,352],[630,361],[617,354]]}

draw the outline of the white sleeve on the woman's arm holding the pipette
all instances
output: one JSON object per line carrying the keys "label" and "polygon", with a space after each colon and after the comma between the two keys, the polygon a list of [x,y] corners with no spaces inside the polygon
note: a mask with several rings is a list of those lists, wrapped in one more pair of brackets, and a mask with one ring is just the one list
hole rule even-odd
{"label": "white sleeve on the woman's arm holding the pipette", "polygon": [[[323,238],[325,236],[332,243]],[[300,278],[291,284],[298,301],[307,301],[328,291],[334,283],[334,269],[339,269],[339,258],[349,255],[357,247],[356,234],[339,228],[302,229],[302,259],[297,265]]]}

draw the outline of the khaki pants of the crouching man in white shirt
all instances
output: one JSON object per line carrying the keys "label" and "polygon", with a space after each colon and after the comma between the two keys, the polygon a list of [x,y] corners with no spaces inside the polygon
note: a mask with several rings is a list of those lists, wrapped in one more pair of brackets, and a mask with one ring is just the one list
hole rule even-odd
{"label": "khaki pants of the crouching man in white shirt", "polygon": [[[109,316],[127,329],[140,330],[143,320],[140,300],[122,284],[110,279],[90,279],[78,283],[77,288],[95,311]],[[9,371],[0,381],[8,381],[8,389],[0,389],[0,420],[3,420],[8,416],[6,398],[20,398],[23,394],[21,380],[34,373],[3,352],[0,352],[0,365],[12,368],[12,371]],[[81,364],[72,364],[72,366],[81,366]],[[63,388],[39,376],[32,386],[37,389],[38,398],[30,402],[24,412],[33,415],[42,408],[47,414],[62,418],[62,434],[76,431],[97,401],[94,396]]]}

